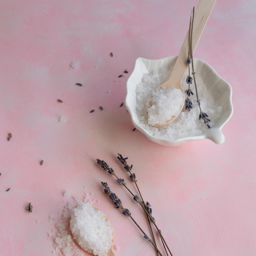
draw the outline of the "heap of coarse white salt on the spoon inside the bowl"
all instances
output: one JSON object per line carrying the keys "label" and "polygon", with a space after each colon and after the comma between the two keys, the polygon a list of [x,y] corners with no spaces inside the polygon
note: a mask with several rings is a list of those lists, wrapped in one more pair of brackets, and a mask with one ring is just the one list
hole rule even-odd
{"label": "heap of coarse white salt on the spoon inside the bowl", "polygon": [[175,87],[162,87],[153,91],[147,104],[148,124],[163,125],[173,116],[180,113],[184,104],[183,93]]}

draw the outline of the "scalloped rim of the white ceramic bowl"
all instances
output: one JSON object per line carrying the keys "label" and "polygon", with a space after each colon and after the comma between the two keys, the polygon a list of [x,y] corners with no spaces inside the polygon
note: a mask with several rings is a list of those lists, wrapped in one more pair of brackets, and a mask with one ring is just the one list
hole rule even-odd
{"label": "scalloped rim of the white ceramic bowl", "polygon": [[[217,74],[217,72],[205,61],[202,61],[198,58],[193,58],[195,66],[199,65],[201,67],[205,67],[210,70],[214,75],[214,79],[219,81],[221,86],[225,88],[225,94],[227,94],[227,101],[225,102],[225,109],[223,109],[223,114],[225,117],[222,117],[221,121],[218,124],[215,124],[211,129],[207,129],[205,133],[198,136],[190,136],[179,139],[168,139],[163,137],[157,137],[152,135],[148,130],[140,125],[139,119],[137,118],[137,114],[135,111],[136,106],[136,87],[137,84],[141,81],[141,78],[144,74],[149,73],[149,71],[155,70],[157,67],[163,67],[164,65],[170,65],[170,63],[175,63],[177,56],[165,57],[157,60],[150,60],[142,57],[138,57],[135,61],[135,67],[130,74],[127,83],[126,83],[126,97],[125,97],[125,105],[130,113],[132,124],[137,128],[140,132],[144,133],[148,139],[154,141],[157,144],[165,145],[165,146],[178,146],[190,141],[196,141],[201,139],[210,139],[216,144],[223,144],[225,141],[225,136],[222,133],[222,128],[231,116],[233,115],[233,105],[232,105],[232,88],[231,85],[223,79],[221,76]],[[195,69],[196,70],[196,69]],[[218,88],[217,88],[218,89]],[[224,107],[223,107],[224,108]]]}

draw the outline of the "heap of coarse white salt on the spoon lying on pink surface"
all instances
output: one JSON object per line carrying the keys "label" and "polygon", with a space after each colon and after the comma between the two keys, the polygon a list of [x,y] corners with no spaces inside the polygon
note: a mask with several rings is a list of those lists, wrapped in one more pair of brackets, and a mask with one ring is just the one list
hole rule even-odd
{"label": "heap of coarse white salt on the spoon lying on pink surface", "polygon": [[85,251],[106,256],[113,244],[113,228],[105,214],[88,203],[80,203],[71,213],[70,229]]}

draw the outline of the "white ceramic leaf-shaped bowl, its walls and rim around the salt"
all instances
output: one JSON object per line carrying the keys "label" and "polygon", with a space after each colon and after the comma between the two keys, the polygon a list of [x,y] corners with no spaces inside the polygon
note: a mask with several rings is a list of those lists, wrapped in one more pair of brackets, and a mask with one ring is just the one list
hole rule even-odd
{"label": "white ceramic leaf-shaped bowl, its walls and rim around the salt", "polygon": [[[135,67],[130,75],[127,85],[126,85],[126,99],[125,104],[128,112],[131,115],[133,125],[148,139],[154,141],[157,144],[165,146],[178,146],[190,141],[210,139],[216,144],[222,144],[225,141],[225,137],[222,133],[222,127],[229,121],[233,114],[232,106],[232,88],[227,81],[222,79],[213,68],[206,62],[194,58],[194,69],[195,72],[202,81],[206,84],[207,90],[211,92],[214,100],[218,101],[219,106],[222,107],[222,112],[218,116],[217,120],[214,121],[214,125],[210,129],[205,129],[201,135],[184,137],[179,139],[166,139],[164,137],[157,137],[152,135],[148,130],[146,130],[138,118],[136,111],[136,88],[144,74],[152,73],[154,70],[159,72],[162,67],[170,67],[175,64],[177,56],[166,57],[158,60],[148,60],[145,58],[137,58],[135,62]],[[195,96],[193,96],[195,97]],[[202,121],[202,120],[201,120]]]}

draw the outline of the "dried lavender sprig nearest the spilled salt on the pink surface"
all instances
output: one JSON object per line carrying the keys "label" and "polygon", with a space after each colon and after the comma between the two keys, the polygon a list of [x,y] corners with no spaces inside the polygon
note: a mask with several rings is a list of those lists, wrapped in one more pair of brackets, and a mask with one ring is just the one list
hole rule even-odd
{"label": "dried lavender sprig nearest the spilled salt on the pink surface", "polygon": [[116,208],[118,209],[121,209],[122,210],[122,213],[125,215],[125,216],[128,216],[130,217],[130,219],[135,223],[135,225],[139,228],[139,230],[142,232],[142,234],[144,235],[144,238],[146,238],[154,247],[155,249],[157,250],[157,253],[160,255],[160,256],[163,256],[161,254],[161,252],[159,251],[159,249],[157,248],[157,246],[155,245],[155,243],[153,243],[153,241],[148,237],[148,235],[144,232],[144,230],[139,226],[139,224],[135,221],[134,218],[132,218],[132,213],[127,209],[127,208],[124,208],[123,205],[122,205],[122,202],[121,200],[117,197],[117,195],[115,193],[113,193],[112,191],[110,191],[110,188],[108,187],[108,183],[107,182],[101,182],[101,184],[104,186],[104,192],[106,193],[106,189],[107,191],[109,191],[108,194],[110,199],[112,200],[112,202],[116,205]]}

